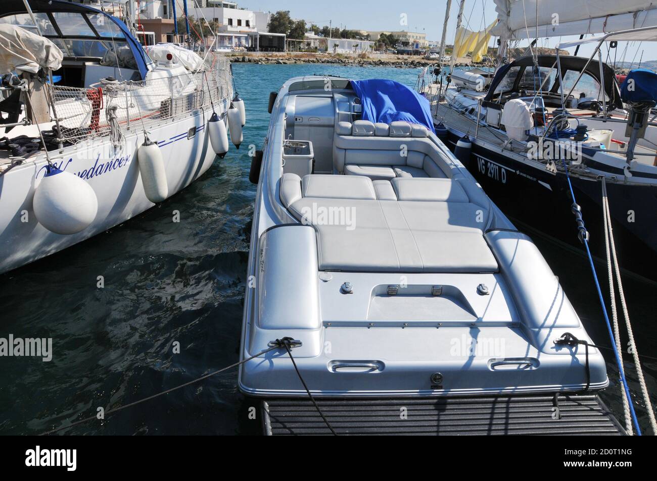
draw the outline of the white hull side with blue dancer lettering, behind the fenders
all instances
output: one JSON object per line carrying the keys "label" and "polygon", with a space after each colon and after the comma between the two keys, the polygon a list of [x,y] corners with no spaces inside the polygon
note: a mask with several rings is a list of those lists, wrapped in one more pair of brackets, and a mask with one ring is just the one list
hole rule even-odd
{"label": "white hull side with blue dancer lettering, behind the fenders", "polygon": [[[149,138],[162,151],[169,196],[187,187],[212,165],[215,154],[206,132],[210,115],[212,111],[196,110],[148,129]],[[88,182],[98,199],[95,220],[78,234],[55,234],[34,215],[32,199],[47,165],[43,155],[0,177],[0,273],[66,249],[154,206],[145,195],[139,174],[137,148],[144,134],[137,124],[124,135],[120,148],[114,148],[106,138],[91,138],[66,148],[62,154],[51,152],[53,163]]]}

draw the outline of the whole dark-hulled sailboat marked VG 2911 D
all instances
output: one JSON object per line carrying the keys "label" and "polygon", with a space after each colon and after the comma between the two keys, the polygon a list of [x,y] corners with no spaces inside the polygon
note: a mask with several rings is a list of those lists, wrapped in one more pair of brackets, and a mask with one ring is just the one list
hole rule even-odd
{"label": "whole dark-hulled sailboat marked VG 2911 D", "polygon": [[[639,0],[622,5],[591,0],[581,9],[563,0],[495,0],[495,5],[497,24],[484,35],[486,41],[499,36],[495,75],[453,69],[447,79],[431,69],[420,75],[418,88],[432,102],[437,133],[512,217],[578,243],[568,214],[570,177],[599,257],[604,257],[604,179],[620,263],[654,280],[657,74],[632,73],[641,77],[631,79],[637,81],[633,92],[603,61],[602,47],[614,58],[618,41],[657,41],[657,5]],[[525,56],[511,58],[521,41],[562,35],[580,39],[557,45],[553,55],[537,54],[532,43]],[[560,54],[591,42],[590,58]]]}

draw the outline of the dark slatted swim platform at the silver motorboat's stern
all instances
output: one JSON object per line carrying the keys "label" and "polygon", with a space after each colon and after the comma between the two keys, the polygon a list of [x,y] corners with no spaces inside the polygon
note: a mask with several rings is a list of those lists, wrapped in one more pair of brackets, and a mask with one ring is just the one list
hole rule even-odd
{"label": "dark slatted swim platform at the silver motorboat's stern", "polygon": [[[597,394],[317,400],[343,435],[625,435]],[[267,435],[330,434],[312,402],[262,402]]]}

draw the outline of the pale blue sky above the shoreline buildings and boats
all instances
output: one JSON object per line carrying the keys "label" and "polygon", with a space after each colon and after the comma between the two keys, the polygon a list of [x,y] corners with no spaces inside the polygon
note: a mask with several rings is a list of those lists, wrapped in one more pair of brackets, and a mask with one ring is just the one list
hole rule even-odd
{"label": "pale blue sky above the shoreline buildings and boats", "polygon": [[[465,0],[465,2],[463,24],[469,26],[470,30],[484,30],[485,25],[497,18],[493,0]],[[332,20],[334,27],[342,26],[350,30],[419,31],[426,33],[429,40],[440,41],[447,0],[238,0],[238,5],[265,12],[290,10],[292,18],[303,18],[306,22],[313,22],[318,26],[328,25],[329,20]],[[447,26],[449,44],[454,40],[458,12],[459,1],[453,0],[449,26]],[[406,20],[406,25],[401,24],[403,20]],[[539,39],[539,45],[554,48],[559,41],[575,39],[578,37]],[[524,41],[521,45],[526,46],[528,42]],[[591,55],[594,47],[593,44],[583,45],[579,49],[579,55]],[[623,51],[627,62],[638,63],[642,52],[643,60],[657,60],[655,42],[619,42],[618,48],[618,60]],[[574,49],[568,50],[570,54],[574,53]],[[604,58],[606,58],[606,49],[603,50],[603,60]]]}

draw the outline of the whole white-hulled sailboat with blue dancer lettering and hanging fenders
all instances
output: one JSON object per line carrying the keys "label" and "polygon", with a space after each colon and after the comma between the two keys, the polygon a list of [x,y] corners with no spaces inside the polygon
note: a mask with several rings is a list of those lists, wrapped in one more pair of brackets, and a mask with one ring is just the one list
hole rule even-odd
{"label": "whole white-hulled sailboat with blue dancer lettering and hanging fenders", "polygon": [[0,273],[179,192],[227,152],[243,111],[221,55],[147,53],[79,3],[3,1],[0,68]]}

